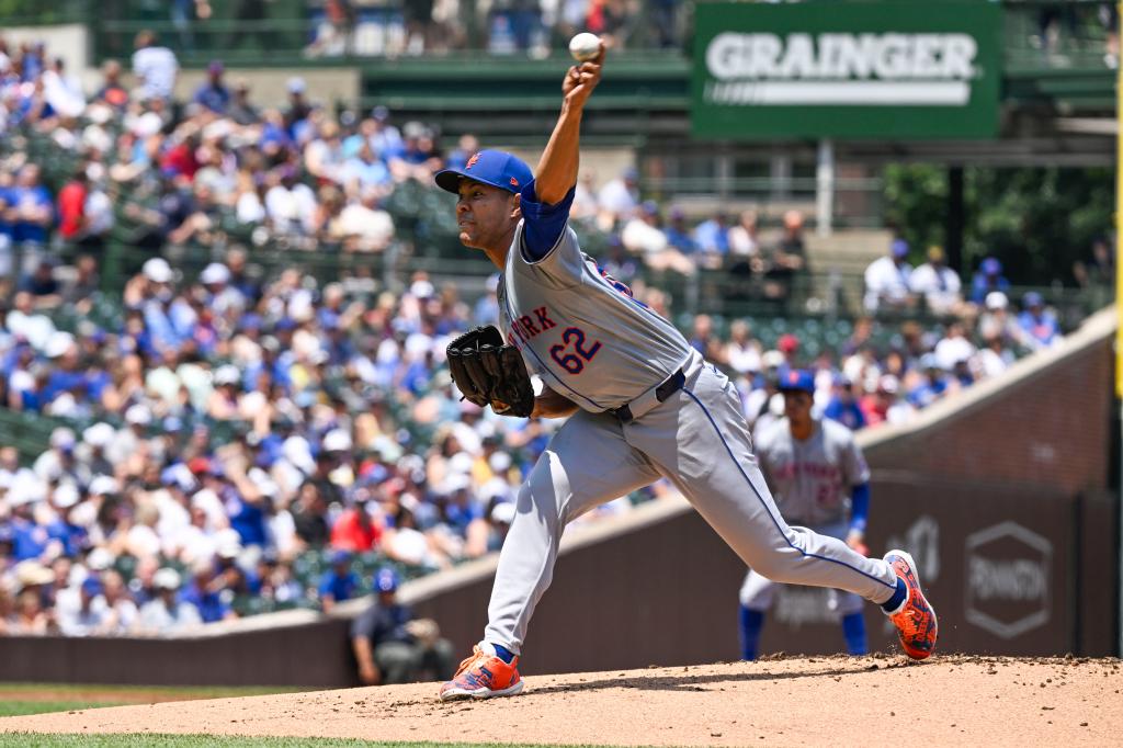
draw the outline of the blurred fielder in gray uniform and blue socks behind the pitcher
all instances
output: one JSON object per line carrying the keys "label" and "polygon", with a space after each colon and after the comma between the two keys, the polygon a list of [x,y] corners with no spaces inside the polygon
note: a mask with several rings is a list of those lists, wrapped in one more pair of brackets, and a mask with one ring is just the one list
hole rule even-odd
{"label": "blurred fielder in gray uniform and blue socks behind the pitcher", "polygon": [[[838,421],[812,416],[815,380],[811,372],[784,372],[779,391],[785,418],[758,431],[756,438],[757,457],[776,492],[776,505],[788,522],[844,540],[865,554],[869,467],[853,432]],[[775,590],[776,583],[756,571],[745,577],[740,595],[743,659],[756,659],[759,654],[760,631]],[[831,590],[829,605],[841,619],[847,651],[865,655],[861,599]]]}

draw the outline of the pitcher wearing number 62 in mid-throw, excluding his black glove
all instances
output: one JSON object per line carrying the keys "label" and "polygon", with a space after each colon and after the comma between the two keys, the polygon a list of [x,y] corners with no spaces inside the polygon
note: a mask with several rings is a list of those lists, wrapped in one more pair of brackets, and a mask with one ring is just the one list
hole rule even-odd
{"label": "pitcher wearing number 62 in mid-throw, excluding his black glove", "polygon": [[537,175],[511,154],[483,150],[436,176],[459,197],[460,243],[502,271],[503,334],[545,384],[533,417],[568,418],[519,490],[483,640],[440,697],[519,693],[519,653],[565,526],[660,477],[746,564],[778,582],[838,587],[882,604],[906,651],[926,657],[935,615],[907,554],[865,558],[840,540],[788,527],[757,468],[732,383],[582,254],[567,221],[582,111],[603,60],[602,48],[567,71]]}

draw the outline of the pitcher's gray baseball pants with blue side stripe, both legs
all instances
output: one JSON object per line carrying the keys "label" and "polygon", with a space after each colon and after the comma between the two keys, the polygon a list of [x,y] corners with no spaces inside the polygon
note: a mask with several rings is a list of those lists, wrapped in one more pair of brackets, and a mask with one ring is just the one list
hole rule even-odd
{"label": "pitcher's gray baseball pants with blue side stripe, both legs", "polygon": [[875,603],[893,595],[897,577],[884,560],[788,527],[757,467],[737,389],[696,353],[683,370],[684,387],[636,413],[631,423],[578,411],[554,435],[519,490],[500,551],[485,641],[521,651],[530,617],[554,576],[565,526],[660,477],[769,580],[836,587]]}

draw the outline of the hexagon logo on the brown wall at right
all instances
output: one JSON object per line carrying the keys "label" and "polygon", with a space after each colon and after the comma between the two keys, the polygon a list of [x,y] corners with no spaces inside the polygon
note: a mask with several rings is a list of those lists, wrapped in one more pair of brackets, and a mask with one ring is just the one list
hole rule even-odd
{"label": "hexagon logo on the brown wall at right", "polygon": [[1052,612],[1052,542],[1017,522],[967,536],[966,618],[1003,639],[1043,626]]}

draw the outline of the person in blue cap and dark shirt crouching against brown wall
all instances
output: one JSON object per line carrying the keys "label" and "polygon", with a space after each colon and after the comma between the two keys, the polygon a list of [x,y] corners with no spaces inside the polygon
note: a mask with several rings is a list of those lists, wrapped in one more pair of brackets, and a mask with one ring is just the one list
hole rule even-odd
{"label": "person in blue cap and dark shirt crouching against brown wall", "polygon": [[351,622],[351,649],[364,685],[441,681],[453,675],[453,646],[436,622],[398,602],[398,576],[374,578],[375,602]]}

